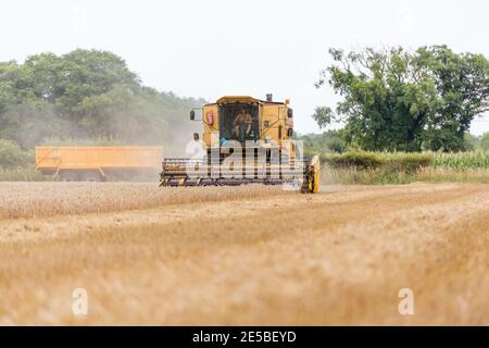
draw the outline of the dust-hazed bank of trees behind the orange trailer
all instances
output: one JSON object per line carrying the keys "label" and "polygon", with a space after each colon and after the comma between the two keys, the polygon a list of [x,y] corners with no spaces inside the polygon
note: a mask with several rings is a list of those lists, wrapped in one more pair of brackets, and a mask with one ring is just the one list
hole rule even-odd
{"label": "dust-hazed bank of trees behind the orange trailer", "polygon": [[188,111],[204,102],[143,86],[106,51],[0,62],[0,139],[22,149],[50,139],[183,147]]}

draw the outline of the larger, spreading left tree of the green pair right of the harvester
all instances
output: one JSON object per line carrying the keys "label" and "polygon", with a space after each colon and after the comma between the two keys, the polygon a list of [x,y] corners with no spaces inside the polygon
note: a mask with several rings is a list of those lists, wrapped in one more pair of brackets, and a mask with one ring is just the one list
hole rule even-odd
{"label": "larger, spreading left tree of the green pair right of the harvester", "polygon": [[421,150],[421,135],[438,105],[429,74],[412,69],[412,55],[401,48],[329,52],[334,64],[316,86],[329,77],[329,85],[343,100],[336,114],[327,108],[316,112],[319,126],[344,122],[347,140],[365,150]]}

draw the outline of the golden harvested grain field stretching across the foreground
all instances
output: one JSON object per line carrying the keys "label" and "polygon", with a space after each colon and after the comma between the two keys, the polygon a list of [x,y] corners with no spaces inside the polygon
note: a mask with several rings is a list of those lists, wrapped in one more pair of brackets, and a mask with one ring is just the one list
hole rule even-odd
{"label": "golden harvested grain field stretching across the foreground", "polygon": [[0,324],[488,325],[487,226],[482,184],[2,183]]}

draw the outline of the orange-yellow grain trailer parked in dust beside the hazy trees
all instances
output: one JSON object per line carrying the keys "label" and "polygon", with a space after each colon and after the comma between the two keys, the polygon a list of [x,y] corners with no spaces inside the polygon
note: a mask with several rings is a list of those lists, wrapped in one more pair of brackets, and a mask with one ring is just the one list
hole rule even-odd
{"label": "orange-yellow grain trailer parked in dust beside the hazy trees", "polygon": [[64,182],[101,182],[108,174],[154,174],[161,167],[158,146],[36,147],[36,170]]}

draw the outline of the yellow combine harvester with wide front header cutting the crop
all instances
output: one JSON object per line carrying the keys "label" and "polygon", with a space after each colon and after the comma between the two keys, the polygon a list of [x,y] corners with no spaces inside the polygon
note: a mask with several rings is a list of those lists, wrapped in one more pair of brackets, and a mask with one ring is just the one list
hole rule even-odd
{"label": "yellow combine harvester with wide front header cutting the crop", "polygon": [[203,124],[193,135],[190,159],[164,159],[161,186],[288,185],[303,192],[319,189],[319,160],[302,157],[291,139],[289,102],[223,97],[190,112]]}

